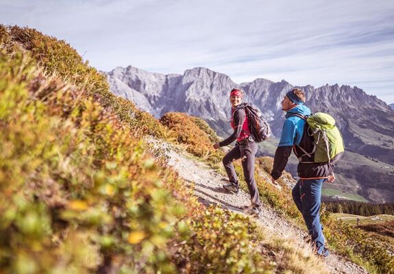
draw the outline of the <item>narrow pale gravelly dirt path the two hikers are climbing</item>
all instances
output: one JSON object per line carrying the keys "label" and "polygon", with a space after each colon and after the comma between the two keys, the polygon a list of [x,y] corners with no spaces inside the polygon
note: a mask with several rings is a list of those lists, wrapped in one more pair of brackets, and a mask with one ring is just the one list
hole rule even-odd
{"label": "narrow pale gravelly dirt path the two hikers are climbing", "polygon": [[[206,164],[191,160],[193,157],[166,142],[153,138],[150,138],[148,142],[155,149],[160,148],[160,151],[165,154],[169,166],[172,166],[180,177],[185,179],[186,182],[194,184],[195,195],[201,203],[206,205],[219,204],[223,208],[238,213],[243,213],[243,210],[241,210],[243,206],[249,206],[250,196],[247,192],[240,190],[238,194],[234,195],[223,190],[221,185],[226,178],[210,169]],[[278,238],[291,239],[299,248],[308,248],[303,240],[306,232],[284,219],[269,206],[262,206],[262,214],[258,219],[256,218],[256,221],[268,233],[274,234]],[[368,273],[357,264],[349,262],[349,260],[332,252],[328,258],[322,260],[330,273]]]}

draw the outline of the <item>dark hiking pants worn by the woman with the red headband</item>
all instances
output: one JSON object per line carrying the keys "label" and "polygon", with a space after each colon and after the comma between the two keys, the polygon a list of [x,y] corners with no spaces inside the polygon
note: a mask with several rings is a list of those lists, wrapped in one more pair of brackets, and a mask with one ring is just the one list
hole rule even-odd
{"label": "dark hiking pants worn by the woman with the red headband", "polygon": [[229,181],[232,184],[238,186],[238,177],[236,176],[232,162],[240,158],[243,158],[241,160],[243,175],[245,176],[247,188],[249,188],[251,204],[253,206],[260,207],[261,206],[260,197],[258,195],[256,181],[254,180],[254,155],[256,155],[256,152],[257,152],[256,142],[251,142],[249,140],[243,140],[241,142],[237,142],[234,149],[230,150],[223,157],[223,165]]}

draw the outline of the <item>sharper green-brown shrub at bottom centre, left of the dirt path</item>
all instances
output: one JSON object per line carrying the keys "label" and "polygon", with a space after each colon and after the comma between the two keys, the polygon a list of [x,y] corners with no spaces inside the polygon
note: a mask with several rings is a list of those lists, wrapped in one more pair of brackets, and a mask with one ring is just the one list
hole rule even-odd
{"label": "sharper green-brown shrub at bottom centre, left of the dirt path", "polygon": [[249,217],[200,206],[189,222],[193,234],[175,257],[182,273],[271,273],[272,265],[260,253],[256,224]]}

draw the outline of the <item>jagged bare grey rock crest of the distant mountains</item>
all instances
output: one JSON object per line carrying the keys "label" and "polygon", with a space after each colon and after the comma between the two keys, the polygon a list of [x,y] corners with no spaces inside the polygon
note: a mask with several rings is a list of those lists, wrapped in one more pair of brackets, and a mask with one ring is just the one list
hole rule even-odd
{"label": "jagged bare grey rock crest of the distant mountains", "polygon": [[[126,79],[125,82],[124,79],[130,77],[132,70],[137,78],[131,78],[131,82],[130,79]],[[127,66],[126,69],[119,66],[106,75],[112,92],[126,99],[132,97],[131,93],[136,97],[134,101],[136,105],[154,116],[160,117],[171,111],[186,112],[206,119],[222,136],[231,131],[228,125],[223,125],[223,122],[230,119],[230,104],[227,102],[227,97],[229,90],[235,87],[245,90],[244,100],[257,105],[266,118],[273,121],[275,136],[279,136],[281,129],[279,122],[283,121],[280,101],[286,91],[293,87],[300,87],[306,91],[307,105],[313,112],[315,110],[333,112],[339,127],[345,126],[346,118],[358,118],[361,110],[381,110],[394,116],[389,105],[375,95],[367,95],[357,86],[352,88],[349,85],[325,84],[315,88],[311,85],[293,86],[284,79],[281,82],[273,82],[264,78],[236,84],[229,76],[204,67],[187,69],[183,75],[164,75],[147,73],[134,66]],[[132,90],[114,84],[119,79],[123,80],[123,84],[127,83]],[[141,84],[145,85],[140,86]],[[342,112],[347,117],[341,115]],[[394,125],[394,119],[392,122]],[[394,134],[391,137],[394,137]],[[394,163],[394,159],[391,163]]]}

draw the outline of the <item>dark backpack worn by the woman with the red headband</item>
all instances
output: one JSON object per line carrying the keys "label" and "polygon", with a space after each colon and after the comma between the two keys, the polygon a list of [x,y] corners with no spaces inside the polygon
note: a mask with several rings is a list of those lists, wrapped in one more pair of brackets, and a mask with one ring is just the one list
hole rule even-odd
{"label": "dark backpack worn by the woman with the red headband", "polygon": [[243,109],[247,116],[249,132],[256,142],[267,140],[271,136],[271,127],[269,123],[262,118],[261,111],[251,103],[241,103],[236,110]]}

